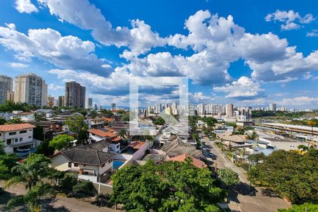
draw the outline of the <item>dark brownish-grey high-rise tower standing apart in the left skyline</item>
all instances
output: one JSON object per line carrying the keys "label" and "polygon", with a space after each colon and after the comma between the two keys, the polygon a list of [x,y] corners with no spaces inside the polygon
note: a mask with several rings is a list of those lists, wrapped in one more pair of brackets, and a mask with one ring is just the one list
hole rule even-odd
{"label": "dark brownish-grey high-rise tower standing apart in the left skyline", "polygon": [[86,88],[74,81],[65,83],[65,106],[66,107],[85,107]]}

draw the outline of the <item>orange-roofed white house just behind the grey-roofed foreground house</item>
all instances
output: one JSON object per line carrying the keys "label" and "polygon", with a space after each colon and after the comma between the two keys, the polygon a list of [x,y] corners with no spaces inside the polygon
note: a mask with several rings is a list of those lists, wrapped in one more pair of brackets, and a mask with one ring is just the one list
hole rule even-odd
{"label": "orange-roofed white house just behind the grey-roofed foreground house", "polygon": [[94,141],[107,141],[110,143],[110,151],[118,153],[120,151],[120,141],[122,138],[116,134],[106,131],[105,129],[90,129],[88,130],[89,138]]}

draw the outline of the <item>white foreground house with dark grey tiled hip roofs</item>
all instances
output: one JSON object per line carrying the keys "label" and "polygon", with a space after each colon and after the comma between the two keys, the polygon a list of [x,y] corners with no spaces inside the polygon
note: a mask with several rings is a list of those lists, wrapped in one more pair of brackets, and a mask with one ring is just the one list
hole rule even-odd
{"label": "white foreground house with dark grey tiled hip roofs", "polygon": [[[113,171],[114,154],[107,153],[108,143],[99,141],[87,146],[67,148],[51,156],[51,167],[63,172],[73,172],[79,179],[104,182]],[[105,152],[106,151],[106,152]]]}

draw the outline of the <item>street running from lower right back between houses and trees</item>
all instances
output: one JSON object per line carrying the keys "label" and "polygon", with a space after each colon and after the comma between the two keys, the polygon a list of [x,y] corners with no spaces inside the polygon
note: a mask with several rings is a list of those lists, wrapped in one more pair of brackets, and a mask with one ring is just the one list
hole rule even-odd
{"label": "street running from lower right back between houses and trees", "polygon": [[230,161],[223,157],[223,153],[213,144],[204,138],[202,141],[211,146],[210,152],[217,156],[214,163],[217,163],[217,168],[232,169],[240,177],[240,185],[237,186],[237,191],[232,191],[230,195],[229,206],[232,211],[243,212],[272,212],[277,211],[278,208],[288,208],[290,204],[284,199],[278,197],[271,197],[264,195],[266,190],[259,187],[249,187],[247,177]]}

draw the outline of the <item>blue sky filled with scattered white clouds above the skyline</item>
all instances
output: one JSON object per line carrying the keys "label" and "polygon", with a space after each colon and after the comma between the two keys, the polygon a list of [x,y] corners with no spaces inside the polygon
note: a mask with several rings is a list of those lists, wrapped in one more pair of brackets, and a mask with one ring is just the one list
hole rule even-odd
{"label": "blue sky filled with scattered white clouds above the skyline", "polygon": [[[128,105],[130,76],[188,76],[191,102],[318,108],[318,1],[0,1],[0,70]],[[162,95],[159,91],[162,91]],[[171,101],[175,89],[144,93]]]}

